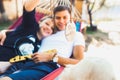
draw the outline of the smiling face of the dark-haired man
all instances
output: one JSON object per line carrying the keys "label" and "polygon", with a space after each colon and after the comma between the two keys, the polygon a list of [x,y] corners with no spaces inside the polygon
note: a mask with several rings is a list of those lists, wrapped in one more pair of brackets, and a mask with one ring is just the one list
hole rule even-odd
{"label": "smiling face of the dark-haired man", "polygon": [[56,12],[54,21],[59,30],[65,30],[68,21],[70,21],[70,13],[67,10]]}

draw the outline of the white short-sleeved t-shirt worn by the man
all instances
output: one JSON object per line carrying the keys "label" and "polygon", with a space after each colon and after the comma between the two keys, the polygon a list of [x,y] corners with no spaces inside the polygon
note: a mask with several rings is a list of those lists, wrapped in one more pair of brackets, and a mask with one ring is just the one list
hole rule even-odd
{"label": "white short-sleeved t-shirt worn by the man", "polygon": [[68,58],[71,56],[73,47],[76,45],[85,46],[85,40],[81,32],[76,32],[73,41],[67,41],[65,31],[58,31],[43,39],[38,52],[56,49],[59,56]]}

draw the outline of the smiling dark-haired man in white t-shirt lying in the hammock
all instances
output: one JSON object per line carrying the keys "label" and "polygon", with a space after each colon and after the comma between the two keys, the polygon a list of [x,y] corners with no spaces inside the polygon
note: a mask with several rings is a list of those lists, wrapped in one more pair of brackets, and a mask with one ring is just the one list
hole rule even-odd
{"label": "smiling dark-haired man in white t-shirt lying in the hammock", "polygon": [[53,14],[56,33],[43,39],[39,52],[55,48],[58,51],[56,55],[58,64],[64,66],[66,64],[76,64],[83,59],[84,55],[85,42],[83,35],[80,32],[76,32],[73,41],[69,42],[66,39],[66,25],[71,18],[70,8],[58,6],[54,9]]}

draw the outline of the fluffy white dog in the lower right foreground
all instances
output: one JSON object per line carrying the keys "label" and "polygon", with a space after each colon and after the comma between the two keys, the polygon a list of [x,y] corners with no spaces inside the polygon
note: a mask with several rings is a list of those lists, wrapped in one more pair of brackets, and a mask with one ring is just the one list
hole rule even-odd
{"label": "fluffy white dog in the lower right foreground", "polygon": [[102,58],[87,57],[76,65],[68,65],[59,80],[116,80],[112,65]]}

